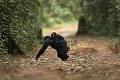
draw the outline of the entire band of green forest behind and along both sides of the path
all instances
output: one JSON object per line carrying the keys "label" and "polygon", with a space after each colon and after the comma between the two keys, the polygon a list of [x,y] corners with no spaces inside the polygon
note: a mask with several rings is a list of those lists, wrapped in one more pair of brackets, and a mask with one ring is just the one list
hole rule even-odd
{"label": "entire band of green forest behind and along both sides of the path", "polygon": [[87,35],[120,37],[119,0],[0,0],[0,56],[24,55],[42,39],[43,27],[81,16]]}

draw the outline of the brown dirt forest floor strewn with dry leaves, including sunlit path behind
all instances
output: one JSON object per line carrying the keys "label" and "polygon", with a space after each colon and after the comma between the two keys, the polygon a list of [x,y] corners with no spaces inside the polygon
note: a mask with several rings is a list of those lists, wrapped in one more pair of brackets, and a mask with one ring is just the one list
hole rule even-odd
{"label": "brown dirt forest floor strewn with dry leaves, including sunlit path behind", "polygon": [[[70,58],[61,61],[51,47],[35,60],[40,48],[25,57],[10,57],[0,64],[0,80],[120,80],[120,48],[114,40],[100,37],[74,37],[77,24],[51,29],[66,37]],[[68,37],[69,36],[69,37]]]}

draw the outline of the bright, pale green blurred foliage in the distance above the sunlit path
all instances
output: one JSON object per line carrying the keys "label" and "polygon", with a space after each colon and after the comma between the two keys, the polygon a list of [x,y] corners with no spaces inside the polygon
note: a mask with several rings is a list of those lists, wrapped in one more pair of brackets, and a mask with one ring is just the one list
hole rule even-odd
{"label": "bright, pale green blurred foliage in the distance above the sunlit path", "polygon": [[[79,0],[77,0],[79,1]],[[76,1],[71,0],[39,0],[40,2],[40,24],[50,26],[54,23],[62,23],[75,20],[79,14]]]}

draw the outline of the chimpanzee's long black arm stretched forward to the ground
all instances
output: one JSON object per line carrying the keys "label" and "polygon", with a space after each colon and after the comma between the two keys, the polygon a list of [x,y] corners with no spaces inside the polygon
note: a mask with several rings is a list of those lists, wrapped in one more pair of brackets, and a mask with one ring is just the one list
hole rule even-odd
{"label": "chimpanzee's long black arm stretched forward to the ground", "polygon": [[41,56],[45,52],[45,50],[47,49],[47,47],[50,44],[50,41],[51,41],[51,39],[49,36],[46,36],[44,38],[44,44],[43,44],[42,48],[40,49],[39,53],[37,54],[36,60],[38,59],[39,56]]}

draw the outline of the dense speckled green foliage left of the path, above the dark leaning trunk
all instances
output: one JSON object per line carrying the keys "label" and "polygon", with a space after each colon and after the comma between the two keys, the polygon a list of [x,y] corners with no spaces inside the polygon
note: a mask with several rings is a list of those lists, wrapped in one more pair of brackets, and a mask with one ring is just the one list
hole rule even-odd
{"label": "dense speckled green foliage left of the path, above the dark leaning trunk", "polygon": [[[39,28],[38,1],[2,0],[0,1],[0,11],[0,33],[11,34],[22,49],[28,49],[27,47],[33,45],[36,30]],[[3,43],[2,40],[0,43]]]}

